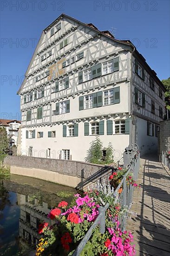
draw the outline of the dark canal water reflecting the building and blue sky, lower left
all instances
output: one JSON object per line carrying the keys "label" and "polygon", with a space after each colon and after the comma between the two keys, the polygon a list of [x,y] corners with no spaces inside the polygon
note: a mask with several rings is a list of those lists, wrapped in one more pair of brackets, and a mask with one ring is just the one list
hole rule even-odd
{"label": "dark canal water reflecting the building and blue sky, lower left", "polygon": [[[27,185],[29,184],[29,185]],[[71,202],[75,189],[34,178],[11,175],[0,180],[0,255],[29,255],[41,237],[39,223],[61,200]]]}

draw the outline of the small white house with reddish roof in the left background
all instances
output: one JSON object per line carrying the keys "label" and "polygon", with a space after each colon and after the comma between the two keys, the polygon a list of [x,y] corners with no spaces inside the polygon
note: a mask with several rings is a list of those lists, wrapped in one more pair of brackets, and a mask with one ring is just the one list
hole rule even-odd
{"label": "small white house with reddish roof in the left background", "polygon": [[11,146],[15,145],[17,147],[20,125],[21,121],[18,120],[0,119],[0,127],[6,128]]}

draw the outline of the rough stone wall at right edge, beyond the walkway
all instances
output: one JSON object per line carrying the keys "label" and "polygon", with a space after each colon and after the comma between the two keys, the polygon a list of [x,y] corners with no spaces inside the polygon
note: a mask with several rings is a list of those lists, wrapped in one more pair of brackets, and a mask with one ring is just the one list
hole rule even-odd
{"label": "rough stone wall at right edge, beyond the walkway", "polygon": [[160,122],[158,141],[159,154],[170,150],[170,119]]}

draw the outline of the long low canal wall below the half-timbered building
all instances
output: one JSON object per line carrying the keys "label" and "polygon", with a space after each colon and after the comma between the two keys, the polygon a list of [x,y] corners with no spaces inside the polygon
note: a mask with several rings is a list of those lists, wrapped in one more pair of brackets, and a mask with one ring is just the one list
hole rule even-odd
{"label": "long low canal wall below the half-timbered building", "polygon": [[39,178],[78,189],[87,188],[92,182],[111,173],[111,168],[104,165],[23,155],[7,156],[4,164],[11,166],[13,174]]}

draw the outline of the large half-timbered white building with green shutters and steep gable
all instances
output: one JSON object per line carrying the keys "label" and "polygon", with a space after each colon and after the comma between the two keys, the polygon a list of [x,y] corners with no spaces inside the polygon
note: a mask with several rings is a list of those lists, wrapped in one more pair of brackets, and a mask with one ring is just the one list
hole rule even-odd
{"label": "large half-timbered white building with green shutters and steep gable", "polygon": [[84,161],[90,142],[114,158],[157,151],[163,83],[130,40],[61,14],[39,39],[18,94],[21,154]]}

